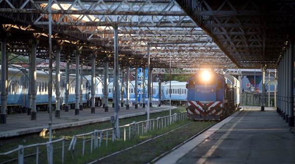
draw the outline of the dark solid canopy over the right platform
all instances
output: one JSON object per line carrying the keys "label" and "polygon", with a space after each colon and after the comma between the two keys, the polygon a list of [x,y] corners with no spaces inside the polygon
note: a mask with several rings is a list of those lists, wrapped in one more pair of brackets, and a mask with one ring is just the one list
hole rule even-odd
{"label": "dark solid canopy over the right platform", "polygon": [[276,68],[294,42],[295,0],[176,1],[239,68]]}

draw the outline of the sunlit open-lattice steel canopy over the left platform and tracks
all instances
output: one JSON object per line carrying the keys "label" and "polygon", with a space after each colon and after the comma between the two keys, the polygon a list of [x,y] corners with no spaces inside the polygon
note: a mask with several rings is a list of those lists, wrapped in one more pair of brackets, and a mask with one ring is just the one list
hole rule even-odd
{"label": "sunlit open-lattice steel canopy over the left platform and tracks", "polygon": [[8,52],[27,55],[38,39],[37,57],[48,58],[49,7],[52,43],[62,47],[61,60],[97,66],[106,57],[113,65],[114,30],[118,26],[119,64],[152,68],[237,68],[175,0],[0,0],[1,36]]}

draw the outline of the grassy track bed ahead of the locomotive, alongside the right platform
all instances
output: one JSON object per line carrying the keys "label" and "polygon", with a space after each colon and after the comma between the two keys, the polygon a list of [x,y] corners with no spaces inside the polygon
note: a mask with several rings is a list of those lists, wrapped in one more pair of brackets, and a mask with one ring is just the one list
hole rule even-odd
{"label": "grassy track bed ahead of the locomotive, alongside the right platform", "polygon": [[[187,121],[183,123],[185,122]],[[163,137],[99,161],[99,164],[146,164],[214,123],[216,122],[192,121],[189,125]],[[174,125],[173,127],[175,128]]]}

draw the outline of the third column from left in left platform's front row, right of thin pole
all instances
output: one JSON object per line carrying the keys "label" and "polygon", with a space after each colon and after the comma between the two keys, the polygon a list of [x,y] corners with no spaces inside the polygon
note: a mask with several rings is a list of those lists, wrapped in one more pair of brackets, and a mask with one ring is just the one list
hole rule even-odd
{"label": "third column from left in left platform's front row, right of thin pole", "polygon": [[58,47],[55,52],[55,117],[60,117],[60,51]]}

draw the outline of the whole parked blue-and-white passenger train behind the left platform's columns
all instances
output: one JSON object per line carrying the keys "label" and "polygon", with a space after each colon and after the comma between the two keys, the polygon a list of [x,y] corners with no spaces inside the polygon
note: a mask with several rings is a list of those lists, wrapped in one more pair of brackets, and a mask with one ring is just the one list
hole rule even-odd
{"label": "whole parked blue-and-white passenger train behind the left platform's columns", "polygon": [[[0,74],[1,75],[1,74]],[[43,70],[37,70],[36,80],[36,108],[38,111],[46,111],[48,109],[48,72]],[[53,86],[52,86],[52,104],[55,104],[55,73],[52,74]],[[75,75],[69,76],[69,105],[71,109],[74,109],[75,105]],[[80,79],[79,79],[80,80]],[[96,106],[101,106],[101,99],[103,98],[103,79],[96,77]],[[18,67],[8,68],[8,90],[7,90],[7,113],[20,113],[25,112],[28,107],[28,91],[29,91],[28,70]],[[119,83],[121,88],[121,82]],[[135,102],[135,81],[129,83],[129,98],[130,102]],[[187,101],[187,89],[185,88],[186,82],[171,82],[171,99],[172,105],[183,105]],[[82,79],[82,102],[83,106],[91,106],[91,75],[85,75]],[[124,100],[126,100],[126,82],[124,83]],[[145,85],[146,94],[143,95],[143,82],[138,81],[138,97],[137,101],[140,103],[145,97],[146,103],[148,101],[147,84]],[[65,89],[66,89],[66,77],[62,73],[61,76],[61,104],[65,103]],[[158,104],[159,98],[164,104],[170,103],[170,82],[161,83],[161,93],[159,93],[159,83],[152,83],[152,101]],[[121,95],[121,94],[120,94]],[[161,97],[159,97],[161,95]],[[113,98],[113,82],[108,82],[108,98]],[[121,98],[120,98],[121,100]],[[54,108],[55,106],[53,106]]]}

